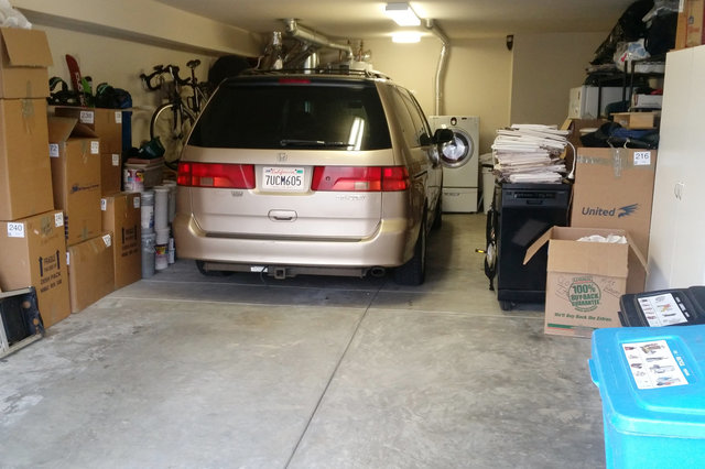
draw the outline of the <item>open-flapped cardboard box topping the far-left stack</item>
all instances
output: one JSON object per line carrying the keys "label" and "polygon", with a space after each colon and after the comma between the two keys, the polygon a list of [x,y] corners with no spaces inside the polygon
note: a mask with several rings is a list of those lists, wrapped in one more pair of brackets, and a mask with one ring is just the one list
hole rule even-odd
{"label": "open-flapped cardboard box topping the far-left stack", "polygon": [[44,31],[0,28],[0,98],[46,98],[52,53]]}

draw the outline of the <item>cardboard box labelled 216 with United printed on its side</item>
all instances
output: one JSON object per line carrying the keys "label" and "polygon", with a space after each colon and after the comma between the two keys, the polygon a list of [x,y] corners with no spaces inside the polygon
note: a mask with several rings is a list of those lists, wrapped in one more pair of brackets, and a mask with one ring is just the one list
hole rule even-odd
{"label": "cardboard box labelled 216 with United printed on its side", "polygon": [[[627,230],[649,255],[655,150],[577,149],[571,226]],[[643,291],[646,272],[629,277],[629,290]]]}

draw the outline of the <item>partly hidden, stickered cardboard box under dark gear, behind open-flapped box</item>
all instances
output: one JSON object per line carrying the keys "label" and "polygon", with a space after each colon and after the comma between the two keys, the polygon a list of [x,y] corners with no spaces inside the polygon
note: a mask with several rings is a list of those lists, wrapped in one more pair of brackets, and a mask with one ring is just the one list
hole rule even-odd
{"label": "partly hidden, stickered cardboard box under dark gear, behind open-flapped box", "polygon": [[102,108],[77,108],[57,106],[54,113],[73,117],[88,127],[100,138],[100,148],[105,153],[122,154],[122,110]]}

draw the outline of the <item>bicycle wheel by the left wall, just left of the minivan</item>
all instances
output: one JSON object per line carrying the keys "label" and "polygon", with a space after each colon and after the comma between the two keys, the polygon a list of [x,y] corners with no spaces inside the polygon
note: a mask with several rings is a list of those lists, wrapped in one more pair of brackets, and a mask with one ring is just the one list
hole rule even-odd
{"label": "bicycle wheel by the left wall, just left of the minivan", "polygon": [[181,151],[196,117],[191,109],[181,103],[167,102],[156,108],[150,121],[150,137],[159,137],[164,146],[164,162],[175,168],[181,157]]}

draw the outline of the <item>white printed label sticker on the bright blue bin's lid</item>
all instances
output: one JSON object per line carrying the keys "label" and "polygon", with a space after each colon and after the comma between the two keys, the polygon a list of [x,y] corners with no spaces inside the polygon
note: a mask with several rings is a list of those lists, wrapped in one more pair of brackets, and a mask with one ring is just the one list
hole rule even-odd
{"label": "white printed label sticker on the bright blue bin's lid", "polygon": [[683,357],[671,350],[665,340],[622,343],[631,375],[640,390],[688,384]]}

